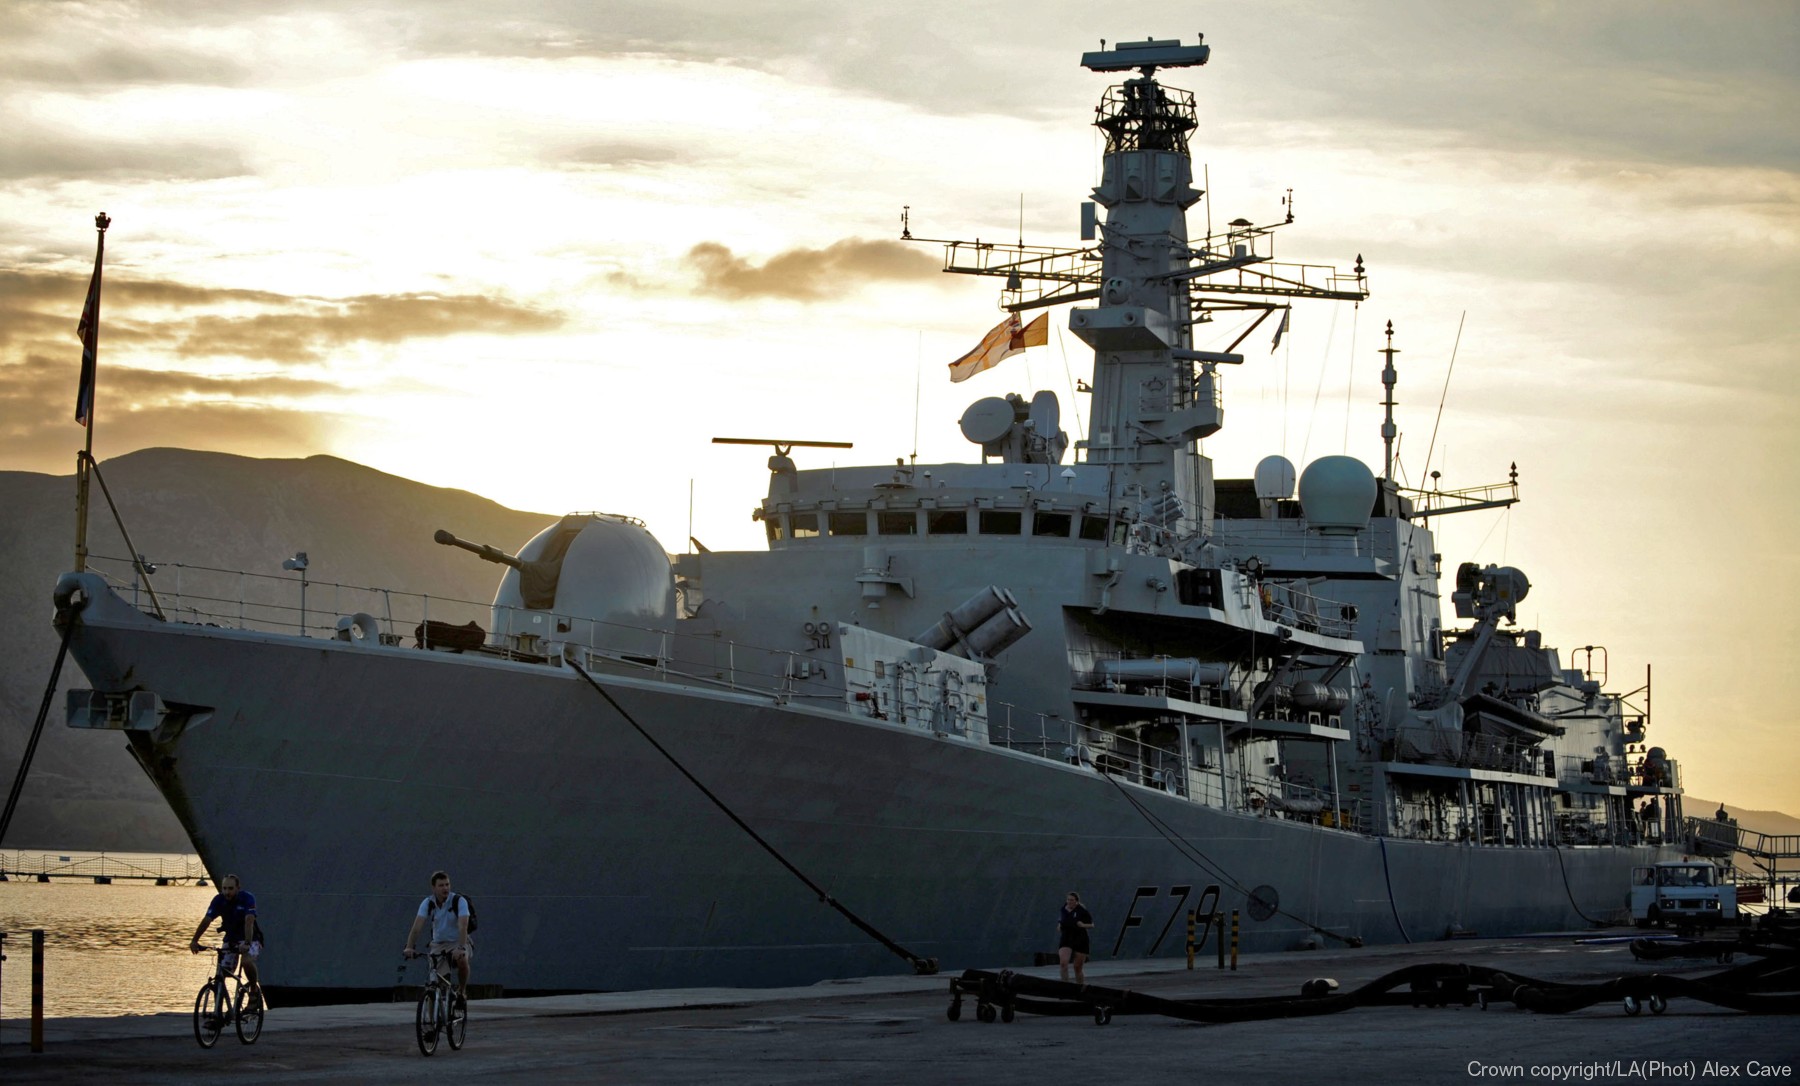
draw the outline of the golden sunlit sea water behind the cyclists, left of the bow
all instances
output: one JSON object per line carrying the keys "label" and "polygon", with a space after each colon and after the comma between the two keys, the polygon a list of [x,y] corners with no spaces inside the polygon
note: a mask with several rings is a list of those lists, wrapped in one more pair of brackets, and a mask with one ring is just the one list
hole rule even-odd
{"label": "golden sunlit sea water behind the cyclists, left of the bow", "polygon": [[[56,875],[85,872],[95,854],[0,854],[0,866],[49,870],[52,879],[34,877],[0,882],[0,1037],[14,1036],[31,1016],[31,929],[41,928],[43,940],[43,1014],[47,1018],[95,1018],[119,1014],[157,1014],[193,1010],[194,992],[212,974],[212,955],[187,949],[194,926],[207,911],[212,886],[126,881],[94,882],[92,875]],[[146,857],[106,854],[106,870],[144,870],[162,861],[182,864],[194,857]],[[45,863],[38,868],[34,864]],[[158,870],[149,866],[148,870]],[[164,866],[182,873],[182,866]],[[247,881],[245,890],[256,893]],[[202,942],[218,942],[218,922]]]}

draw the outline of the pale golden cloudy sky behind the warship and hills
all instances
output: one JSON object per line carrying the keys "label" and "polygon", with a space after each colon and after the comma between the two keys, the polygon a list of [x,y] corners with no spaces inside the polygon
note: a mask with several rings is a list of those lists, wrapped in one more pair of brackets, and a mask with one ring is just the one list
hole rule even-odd
{"label": "pale golden cloudy sky behind the warship and hills", "polygon": [[1170,11],[0,0],[0,468],[72,470],[97,211],[101,459],[329,452],[716,549],[756,544],[767,472],[713,436],[967,459],[972,398],[1044,387],[1075,430],[1066,330],[947,382],[997,285],[900,209],[1075,245],[1109,83],[1078,54],[1204,32],[1166,81],[1215,222],[1292,189],[1280,256],[1363,254],[1373,290],[1228,375],[1220,474],[1379,463],[1393,321],[1404,479],[1519,468],[1523,504],[1444,524],[1447,567],[1523,567],[1521,621],[1604,645],[1615,690],[1654,663],[1692,791],[1800,805],[1800,9]]}

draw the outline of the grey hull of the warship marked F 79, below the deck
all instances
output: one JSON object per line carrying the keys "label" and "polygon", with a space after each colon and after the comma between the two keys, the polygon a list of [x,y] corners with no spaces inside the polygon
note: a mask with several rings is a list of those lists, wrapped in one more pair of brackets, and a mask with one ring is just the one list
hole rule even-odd
{"label": "grey hull of the warship marked F 79, below the deck", "polygon": [[[907,967],[571,668],[157,623],[110,593],[79,623],[97,690],[209,710],[128,735],[209,868],[257,895],[268,983],[392,985],[434,868],[477,902],[477,980],[511,991]],[[1053,951],[1067,890],[1094,956],[1134,958],[1183,953],[1190,908],[1242,911],[1246,951],[1584,928],[1618,919],[1631,864],[1656,859],[1379,839],[833,708],[598,679],[794,866],[945,969]]]}

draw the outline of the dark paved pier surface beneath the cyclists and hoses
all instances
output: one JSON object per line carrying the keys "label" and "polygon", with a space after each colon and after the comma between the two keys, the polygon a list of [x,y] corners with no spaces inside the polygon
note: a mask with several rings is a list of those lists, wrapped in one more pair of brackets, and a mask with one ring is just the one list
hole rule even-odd
{"label": "dark paved pier surface beneath the cyclists and hoses", "polygon": [[[1624,935],[1624,933],[1615,933]],[[1089,983],[1165,998],[1343,989],[1393,969],[1463,962],[1553,982],[1652,973],[1705,976],[1712,960],[1638,962],[1625,942],[1575,935],[1251,955],[1219,971],[1181,962],[1094,962]],[[1208,947],[1210,949],[1210,947]],[[1739,956],[1739,962],[1744,958]],[[1019,969],[1055,978],[1055,967]],[[479,980],[479,976],[477,976]],[[950,976],[877,976],[803,989],[668,989],[470,1005],[468,1045],[421,1057],[412,1005],[274,1009],[261,1041],[194,1045],[187,1014],[52,1019],[45,1052],[27,1023],[0,1023],[4,1082],[1796,1082],[1800,1023],[1692,1000],[1667,1014],[1602,1003],[1575,1014],[1373,1007],[1318,1018],[1193,1025],[1166,1018],[1019,1014],[949,1021]]]}

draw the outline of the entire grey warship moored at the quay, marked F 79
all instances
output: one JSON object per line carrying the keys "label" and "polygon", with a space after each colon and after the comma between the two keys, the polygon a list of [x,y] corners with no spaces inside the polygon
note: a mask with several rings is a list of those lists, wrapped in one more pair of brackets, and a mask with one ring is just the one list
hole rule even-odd
{"label": "entire grey warship moored at the quay, marked F 79", "polygon": [[297,609],[254,578],[146,603],[137,573],[63,575],[92,683],[68,724],[121,731],[207,866],[252,881],[266,983],[392,987],[434,866],[479,902],[477,980],[511,992],[1030,965],[1071,888],[1098,958],[1179,955],[1226,915],[1247,951],[1624,920],[1631,868],[1683,845],[1679,767],[1642,690],[1517,627],[1525,573],[1445,571],[1433,520],[1517,477],[1395,479],[1391,324],[1381,475],[1224,479],[1201,452],[1255,328],[1370,285],[1361,256],[1274,259],[1291,204],[1190,238],[1199,115],[1157,74],[1208,54],[1082,56],[1120,83],[1080,245],[941,241],[1003,281],[965,373],[1069,306],[1073,445],[1046,391],[977,398],[967,463],[803,468],[819,441],[731,438],[774,447],[756,551],[671,557],[612,513],[515,553],[419,526],[499,566],[470,623],[398,591],[308,609],[304,555]]}

